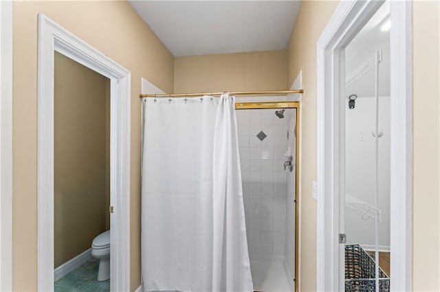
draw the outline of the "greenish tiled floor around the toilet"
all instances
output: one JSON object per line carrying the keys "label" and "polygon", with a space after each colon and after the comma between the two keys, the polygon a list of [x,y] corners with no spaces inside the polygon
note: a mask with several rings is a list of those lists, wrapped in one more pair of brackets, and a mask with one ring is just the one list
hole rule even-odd
{"label": "greenish tiled floor around the toilet", "polygon": [[99,262],[92,259],[55,282],[56,292],[110,291],[110,280],[99,282]]}

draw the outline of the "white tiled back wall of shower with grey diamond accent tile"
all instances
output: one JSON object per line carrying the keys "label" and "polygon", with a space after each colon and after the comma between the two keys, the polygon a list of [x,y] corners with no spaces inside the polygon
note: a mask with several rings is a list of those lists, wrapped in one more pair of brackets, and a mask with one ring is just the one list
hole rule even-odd
{"label": "white tiled back wall of shower with grey diamond accent tile", "polygon": [[249,252],[284,256],[286,120],[272,109],[237,110],[236,117]]}

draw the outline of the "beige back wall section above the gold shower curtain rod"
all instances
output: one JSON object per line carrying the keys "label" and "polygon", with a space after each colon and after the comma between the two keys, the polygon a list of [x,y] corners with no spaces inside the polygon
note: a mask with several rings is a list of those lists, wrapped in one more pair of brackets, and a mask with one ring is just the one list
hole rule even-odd
{"label": "beige back wall section above the gold shower curtain rod", "polygon": [[175,93],[281,90],[286,51],[260,51],[175,58]]}

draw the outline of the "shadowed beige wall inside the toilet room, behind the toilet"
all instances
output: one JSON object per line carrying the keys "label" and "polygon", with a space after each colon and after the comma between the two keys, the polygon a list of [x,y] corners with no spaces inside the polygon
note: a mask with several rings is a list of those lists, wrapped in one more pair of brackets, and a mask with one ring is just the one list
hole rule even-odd
{"label": "shadowed beige wall inside the toilet room, behind the toilet", "polygon": [[55,53],[54,264],[108,230],[108,78]]}

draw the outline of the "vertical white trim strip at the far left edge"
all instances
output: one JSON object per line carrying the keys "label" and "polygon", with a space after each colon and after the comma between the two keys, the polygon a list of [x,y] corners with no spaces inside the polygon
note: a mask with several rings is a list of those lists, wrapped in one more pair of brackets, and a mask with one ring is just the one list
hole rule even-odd
{"label": "vertical white trim strip at the far left edge", "polygon": [[12,1],[0,1],[0,291],[12,291]]}

